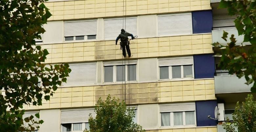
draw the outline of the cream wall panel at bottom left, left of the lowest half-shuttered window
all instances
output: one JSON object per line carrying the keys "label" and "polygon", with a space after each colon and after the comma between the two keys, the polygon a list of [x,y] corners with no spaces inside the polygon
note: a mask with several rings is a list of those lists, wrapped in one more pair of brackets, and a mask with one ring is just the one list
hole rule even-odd
{"label": "cream wall panel at bottom left, left of the lowest half-shuttered window", "polygon": [[40,132],[59,132],[60,131],[60,110],[48,109],[40,110],[40,120],[44,123],[40,125]]}

